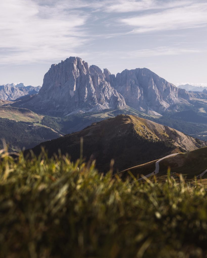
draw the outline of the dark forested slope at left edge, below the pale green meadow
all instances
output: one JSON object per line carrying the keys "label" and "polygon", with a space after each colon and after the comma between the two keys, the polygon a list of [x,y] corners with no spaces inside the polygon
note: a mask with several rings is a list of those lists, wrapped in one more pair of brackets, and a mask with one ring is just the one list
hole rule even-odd
{"label": "dark forested slope at left edge, below the pale green meadow", "polygon": [[0,118],[0,149],[3,148],[2,140],[10,145],[9,150],[33,148],[37,144],[58,138],[59,134],[50,128],[34,125],[31,122],[16,122]]}

